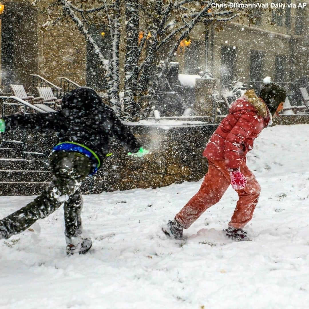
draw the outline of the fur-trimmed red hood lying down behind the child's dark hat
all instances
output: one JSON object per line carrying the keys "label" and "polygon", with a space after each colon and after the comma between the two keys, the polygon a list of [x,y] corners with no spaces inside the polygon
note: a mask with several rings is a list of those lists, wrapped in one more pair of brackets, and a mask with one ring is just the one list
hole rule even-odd
{"label": "fur-trimmed red hood lying down behind the child's dark hat", "polygon": [[244,95],[232,103],[230,113],[242,110],[254,111],[258,116],[267,118],[268,110],[263,100],[261,100],[253,89],[247,90]]}

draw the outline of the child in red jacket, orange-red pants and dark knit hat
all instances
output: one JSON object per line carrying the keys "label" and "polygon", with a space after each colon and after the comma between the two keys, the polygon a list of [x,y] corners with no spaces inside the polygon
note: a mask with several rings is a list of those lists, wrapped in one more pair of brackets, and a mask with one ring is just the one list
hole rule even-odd
{"label": "child in red jacket, orange-red pants and dark knit hat", "polygon": [[286,91],[275,83],[263,87],[260,97],[248,90],[230,107],[203,152],[208,159],[208,173],[199,191],[188,201],[175,219],[163,227],[163,232],[182,239],[187,229],[210,206],[218,203],[231,184],[238,193],[237,202],[226,235],[245,240],[242,228],[252,219],[260,196],[260,185],[246,165],[246,154],[253,148],[254,139],[269,125],[278,107],[283,108]]}

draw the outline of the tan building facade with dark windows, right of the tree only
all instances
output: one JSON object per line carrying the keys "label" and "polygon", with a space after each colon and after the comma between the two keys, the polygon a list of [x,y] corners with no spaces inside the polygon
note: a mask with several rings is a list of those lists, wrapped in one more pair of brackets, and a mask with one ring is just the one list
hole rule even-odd
{"label": "tan building facade with dark windows, right of the tree only", "polygon": [[181,71],[198,74],[208,69],[223,87],[239,81],[254,85],[265,76],[289,83],[309,75],[309,8],[292,3],[296,8],[269,13],[270,23],[265,15],[250,26],[234,21],[220,31],[215,26],[208,31],[202,25],[194,28],[192,44],[180,55]]}

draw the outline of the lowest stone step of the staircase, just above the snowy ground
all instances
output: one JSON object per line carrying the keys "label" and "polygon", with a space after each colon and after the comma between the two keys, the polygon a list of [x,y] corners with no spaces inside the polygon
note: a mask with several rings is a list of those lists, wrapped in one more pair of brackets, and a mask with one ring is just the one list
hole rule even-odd
{"label": "lowest stone step of the staircase, just above the snowy ground", "polygon": [[48,185],[49,182],[0,182],[0,195],[39,195]]}

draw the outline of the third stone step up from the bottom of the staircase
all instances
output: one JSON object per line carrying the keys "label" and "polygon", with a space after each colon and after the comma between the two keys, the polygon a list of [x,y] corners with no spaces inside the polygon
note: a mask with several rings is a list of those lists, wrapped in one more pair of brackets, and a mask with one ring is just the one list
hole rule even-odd
{"label": "third stone step up from the bottom of the staircase", "polygon": [[0,158],[0,170],[49,171],[48,160]]}

